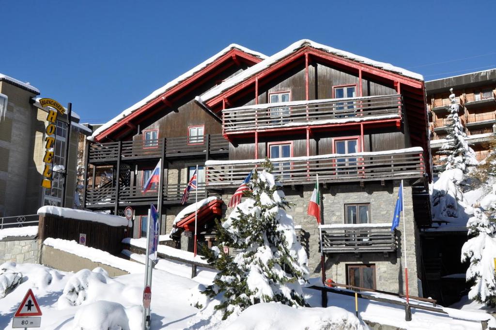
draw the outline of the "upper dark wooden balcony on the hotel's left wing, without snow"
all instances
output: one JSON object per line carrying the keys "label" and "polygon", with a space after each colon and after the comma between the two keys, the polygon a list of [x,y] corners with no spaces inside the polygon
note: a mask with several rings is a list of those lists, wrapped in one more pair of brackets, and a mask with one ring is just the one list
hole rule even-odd
{"label": "upper dark wooden balcony on the hotel's left wing, without snow", "polygon": [[105,164],[124,161],[146,160],[194,155],[226,154],[229,142],[222,134],[207,134],[200,137],[162,138],[156,140],[122,141],[110,143],[93,143],[88,149],[90,164]]}

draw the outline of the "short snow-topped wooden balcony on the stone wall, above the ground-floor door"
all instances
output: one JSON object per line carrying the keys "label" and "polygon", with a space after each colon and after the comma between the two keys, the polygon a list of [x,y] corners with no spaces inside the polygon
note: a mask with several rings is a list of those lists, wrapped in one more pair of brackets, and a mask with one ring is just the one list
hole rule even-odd
{"label": "short snow-topped wooden balcony on the stone wall, above the ground-floor door", "polygon": [[391,224],[321,225],[324,253],[393,252],[395,232]]}

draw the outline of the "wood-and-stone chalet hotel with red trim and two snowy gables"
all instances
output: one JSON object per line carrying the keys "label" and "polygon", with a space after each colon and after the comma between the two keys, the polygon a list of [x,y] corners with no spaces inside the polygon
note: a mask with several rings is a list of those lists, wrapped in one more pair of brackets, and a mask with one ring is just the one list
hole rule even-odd
{"label": "wood-and-stone chalet hotel with red trim and two snowy gables", "polygon": [[[132,206],[139,237],[161,190],[162,233],[169,233],[199,165],[200,196],[219,197],[200,208],[204,242],[213,219],[231,212],[231,194],[268,157],[295,203],[288,213],[301,228],[310,271],[321,271],[319,230],[307,215],[318,174],[327,278],[403,292],[403,223],[390,231],[403,179],[410,293],[417,295],[419,229],[431,222],[428,134],[420,75],[310,40],[271,57],[231,45],[93,134],[88,179],[99,166],[114,166],[114,176],[105,186],[88,185],[85,205],[118,214]],[[143,194],[159,159],[163,182]],[[194,230],[194,216],[180,220],[177,235]]]}

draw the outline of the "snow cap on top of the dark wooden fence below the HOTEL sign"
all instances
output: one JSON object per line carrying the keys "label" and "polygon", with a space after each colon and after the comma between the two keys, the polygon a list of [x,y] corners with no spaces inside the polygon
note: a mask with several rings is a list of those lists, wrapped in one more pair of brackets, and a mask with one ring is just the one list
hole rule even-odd
{"label": "snow cap on top of the dark wooden fence below the HOTEL sign", "polygon": [[84,210],[69,209],[57,206],[43,206],[38,209],[38,215],[55,215],[66,219],[99,222],[113,227],[132,227],[131,221],[116,215],[97,213]]}

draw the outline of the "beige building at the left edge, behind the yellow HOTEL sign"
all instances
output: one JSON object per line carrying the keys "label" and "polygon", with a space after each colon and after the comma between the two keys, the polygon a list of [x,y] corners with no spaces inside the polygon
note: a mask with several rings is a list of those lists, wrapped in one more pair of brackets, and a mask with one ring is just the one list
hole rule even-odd
{"label": "beige building at the left edge, behind the yellow HOTEL sign", "polygon": [[[62,203],[62,182],[67,176],[66,206],[73,207],[76,184],[76,158],[79,135],[91,130],[79,124],[72,112],[69,163],[66,174],[52,173],[52,188],[42,187],[47,136],[54,138],[49,168],[64,165],[67,139],[67,113],[59,115],[56,129],[48,135],[48,107],[42,107],[40,90],[28,83],[0,74],[0,218],[2,223],[22,221],[36,215],[43,205]],[[37,218],[37,216],[35,217]],[[19,220],[20,219],[20,220]]]}

